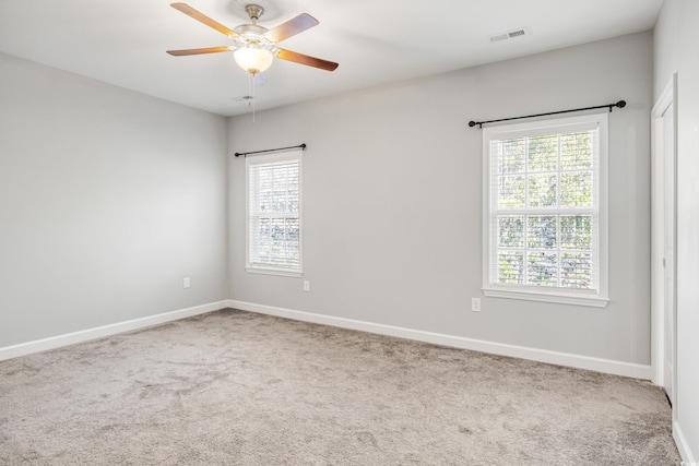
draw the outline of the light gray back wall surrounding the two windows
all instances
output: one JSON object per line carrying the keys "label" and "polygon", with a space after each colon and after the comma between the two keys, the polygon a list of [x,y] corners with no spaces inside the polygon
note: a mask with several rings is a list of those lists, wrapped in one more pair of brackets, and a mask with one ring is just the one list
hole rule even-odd
{"label": "light gray back wall surrounding the two windows", "polygon": [[[304,279],[245,271],[245,162],[230,157],[230,298],[650,363],[652,35],[636,34],[230,120],[230,152],[307,143]],[[260,91],[260,98],[263,97]],[[471,119],[626,99],[609,119],[612,302],[484,298],[482,142]],[[483,311],[470,311],[471,297]]]}

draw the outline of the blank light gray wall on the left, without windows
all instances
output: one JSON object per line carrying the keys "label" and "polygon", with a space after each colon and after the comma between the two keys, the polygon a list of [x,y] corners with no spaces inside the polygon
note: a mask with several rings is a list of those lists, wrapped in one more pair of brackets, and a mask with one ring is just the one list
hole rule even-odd
{"label": "blank light gray wall on the left, without windows", "polygon": [[226,132],[0,55],[0,347],[225,299]]}

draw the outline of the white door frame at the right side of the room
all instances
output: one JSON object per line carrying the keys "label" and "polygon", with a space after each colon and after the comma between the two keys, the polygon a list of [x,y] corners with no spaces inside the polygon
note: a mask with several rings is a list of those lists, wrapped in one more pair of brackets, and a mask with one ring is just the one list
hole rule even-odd
{"label": "white door frame at the right side of the room", "polygon": [[[672,119],[673,119],[673,150],[672,154],[665,154],[664,151],[664,134],[663,134],[663,119],[666,110],[670,106],[673,106]],[[664,167],[665,158],[670,156],[673,158],[673,193],[674,196],[674,213],[673,223],[675,225],[674,236],[677,237],[677,74],[673,74],[670,83],[665,86],[665,89],[657,98],[653,109],[651,110],[651,373],[652,382],[656,385],[666,386],[665,381],[665,340],[667,332],[672,332],[673,347],[671,359],[673,361],[673,380],[670,381],[672,393],[668,393],[668,398],[672,401],[677,399],[676,393],[676,380],[677,380],[677,313],[676,313],[676,261],[674,263],[674,270],[671,271],[675,276],[673,277],[674,286],[674,299],[673,309],[673,327],[666,328],[665,325],[665,268],[663,258],[665,256],[664,246],[664,207],[665,207],[665,180],[664,180]],[[673,242],[674,258],[677,258],[677,242]],[[674,417],[674,410],[673,410]]]}

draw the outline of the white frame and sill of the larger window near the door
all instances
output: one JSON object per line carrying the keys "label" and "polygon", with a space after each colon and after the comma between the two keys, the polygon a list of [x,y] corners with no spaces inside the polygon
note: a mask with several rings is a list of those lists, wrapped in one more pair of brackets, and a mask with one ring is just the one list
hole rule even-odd
{"label": "white frame and sill of the larger window near the door", "polygon": [[[497,228],[494,227],[494,200],[491,194],[493,162],[490,158],[490,141],[555,134],[557,132],[573,132],[579,129],[599,128],[599,159],[595,174],[599,177],[593,208],[597,218],[597,289],[573,289],[565,287],[543,287],[534,285],[498,284],[494,273],[493,258],[497,253]],[[488,297],[521,299],[530,301],[557,302],[565,304],[604,308],[608,298],[608,188],[607,188],[607,126],[606,113],[593,113],[581,117],[556,118],[545,121],[502,124],[483,130],[483,292]],[[594,188],[593,188],[594,189]],[[559,207],[560,208],[560,207]],[[526,210],[513,211],[525,214]],[[500,212],[501,213],[501,212]],[[552,212],[554,213],[554,212]],[[559,213],[559,211],[556,211]],[[595,273],[595,271],[593,271]]]}

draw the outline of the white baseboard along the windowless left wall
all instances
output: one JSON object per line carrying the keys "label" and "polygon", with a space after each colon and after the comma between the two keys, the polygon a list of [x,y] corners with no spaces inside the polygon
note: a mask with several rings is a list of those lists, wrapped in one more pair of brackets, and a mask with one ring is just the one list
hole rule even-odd
{"label": "white baseboard along the windowless left wall", "polygon": [[95,328],[87,328],[79,332],[68,333],[66,335],[51,336],[49,338],[37,339],[34,342],[22,343],[13,346],[0,348],[0,361],[19,356],[31,355],[33,353],[46,351],[47,349],[59,348],[61,346],[73,345],[75,343],[87,342],[90,339],[102,338],[104,336],[115,335],[132,330],[144,328],[152,325],[171,322],[179,319],[190,318],[211,311],[223,309],[227,306],[227,301],[211,302],[209,304],[196,306],[193,308],[180,309],[162,314],[149,315],[146,318],[133,319],[126,322],[103,325]]}

